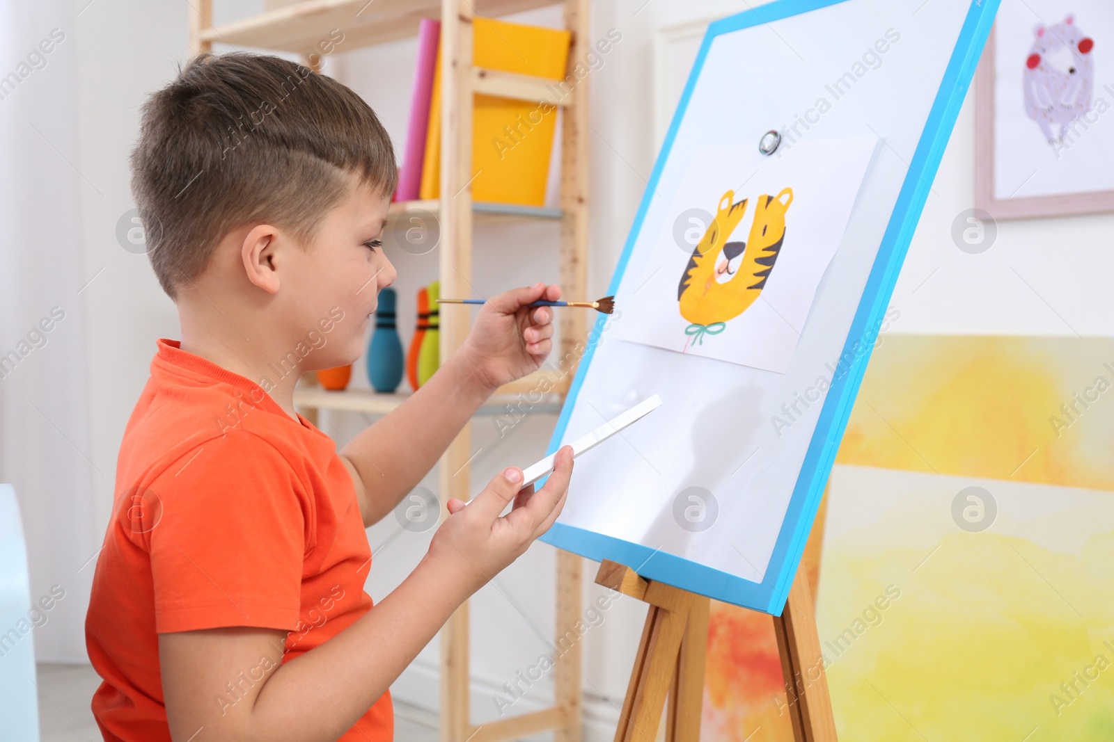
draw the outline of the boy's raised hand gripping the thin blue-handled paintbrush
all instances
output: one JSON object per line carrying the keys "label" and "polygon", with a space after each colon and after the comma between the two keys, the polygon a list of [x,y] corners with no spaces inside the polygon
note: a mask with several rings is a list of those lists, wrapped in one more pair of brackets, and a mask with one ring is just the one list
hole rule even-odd
{"label": "boy's raised hand gripping the thin blue-handled paintbrush", "polygon": [[553,307],[530,307],[531,301],[560,298],[560,286],[514,288],[492,296],[480,307],[476,324],[461,346],[477,378],[492,392],[536,372],[553,348]]}

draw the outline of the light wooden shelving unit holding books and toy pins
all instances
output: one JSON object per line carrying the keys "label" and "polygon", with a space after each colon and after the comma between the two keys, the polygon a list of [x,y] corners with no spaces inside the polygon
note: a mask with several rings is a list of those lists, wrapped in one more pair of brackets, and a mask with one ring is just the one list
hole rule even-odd
{"label": "light wooden shelving unit holding books and toy pins", "polygon": [[[267,0],[264,13],[214,27],[213,0],[189,0],[189,38],[194,53],[213,43],[236,48],[253,47],[307,55],[333,29],[344,32],[342,51],[412,37],[422,18],[441,20],[441,197],[438,200],[393,204],[391,215],[422,208],[437,215],[441,237],[439,278],[443,296],[471,295],[472,227],[475,224],[500,224],[521,219],[555,220],[560,225],[560,284],[567,297],[587,295],[587,129],[588,86],[578,80],[566,92],[554,97],[553,80],[510,75],[472,66],[472,22],[477,18],[506,16],[550,4],[561,4],[565,27],[571,31],[568,69],[583,60],[588,49],[589,0]],[[280,7],[276,7],[280,6]],[[319,70],[320,71],[320,70]],[[570,89],[569,89],[570,88]],[[560,208],[545,209],[506,204],[473,202],[471,198],[471,106],[472,96],[482,92],[529,101],[547,101],[563,108]],[[466,115],[467,113],[467,115]],[[560,342],[553,358],[578,359],[576,345],[586,337],[587,311],[557,313]],[[594,318],[594,317],[593,317]],[[441,357],[447,358],[467,337],[469,313],[442,313],[440,317]],[[518,395],[538,388],[545,369],[514,384],[500,387],[485,409],[501,409]],[[568,390],[571,373],[555,379],[554,394],[543,405],[559,408]],[[307,412],[319,408],[387,414],[407,394],[380,395],[372,392],[325,392],[300,388],[295,404]],[[483,413],[485,409],[480,412]],[[467,476],[471,426],[466,425],[441,458],[441,497],[468,499]],[[453,473],[465,472],[465,476]],[[567,552],[557,555],[557,611],[555,637],[567,644],[567,634],[580,617],[580,557]],[[575,635],[576,632],[574,631]],[[574,645],[554,657],[554,705],[534,713],[504,718],[481,725],[469,714],[468,604],[457,611],[441,631],[441,739],[443,742],[499,742],[555,731],[556,742],[582,739],[580,646]]]}

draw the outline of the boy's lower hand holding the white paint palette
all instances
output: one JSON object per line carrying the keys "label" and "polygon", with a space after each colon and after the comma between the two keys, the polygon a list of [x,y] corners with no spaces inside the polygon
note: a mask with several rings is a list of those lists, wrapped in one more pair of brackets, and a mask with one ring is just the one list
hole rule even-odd
{"label": "boy's lower hand holding the white paint palette", "polygon": [[[471,502],[449,501],[449,517],[433,534],[428,558],[455,575],[465,597],[518,558],[560,515],[573,475],[573,446],[561,446],[554,464],[538,492],[532,484],[522,489],[522,471],[509,466]],[[511,511],[500,517],[511,502]]]}

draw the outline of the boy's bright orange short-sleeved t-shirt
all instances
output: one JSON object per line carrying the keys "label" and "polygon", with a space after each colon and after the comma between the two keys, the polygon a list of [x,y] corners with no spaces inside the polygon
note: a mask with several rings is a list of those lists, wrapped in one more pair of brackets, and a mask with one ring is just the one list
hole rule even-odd
{"label": "boy's bright orange short-sleeved t-shirt", "polygon": [[[286,662],[371,609],[371,548],[333,441],[175,340],[158,342],[116,484],[85,625],[106,740],[169,742],[159,633],[286,630]],[[267,667],[229,677],[225,702]],[[393,726],[387,692],[341,739],[387,742]]]}

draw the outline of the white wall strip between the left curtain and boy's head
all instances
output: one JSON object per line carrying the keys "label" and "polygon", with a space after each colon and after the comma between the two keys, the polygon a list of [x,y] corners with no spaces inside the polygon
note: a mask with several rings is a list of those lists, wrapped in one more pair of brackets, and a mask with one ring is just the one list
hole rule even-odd
{"label": "white wall strip between the left curtain and boy's head", "polygon": [[[85,3],[77,2],[80,8]],[[77,18],[79,168],[104,192],[82,191],[84,291],[88,316],[92,459],[97,532],[113,503],[116,454],[131,407],[147,382],[155,339],[177,337],[174,304],[145,255],[125,250],[116,222],[135,207],[128,155],[139,130],[139,106],[185,59],[186,3],[97,2]]]}

